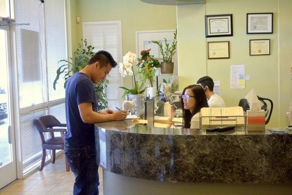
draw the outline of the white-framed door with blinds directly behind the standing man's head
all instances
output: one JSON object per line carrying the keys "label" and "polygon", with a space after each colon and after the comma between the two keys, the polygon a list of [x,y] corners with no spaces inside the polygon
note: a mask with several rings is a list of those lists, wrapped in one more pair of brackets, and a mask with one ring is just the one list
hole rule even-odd
{"label": "white-framed door with blinds directly behind the standing man's head", "polygon": [[[105,50],[110,52],[117,63],[122,59],[122,23],[121,21],[101,21],[83,22],[83,39],[94,47],[94,52]],[[122,90],[118,87],[123,86],[123,79],[119,73],[118,65],[111,69],[107,77],[110,81],[105,91],[109,108],[122,106]]]}

